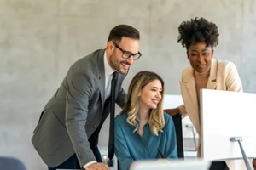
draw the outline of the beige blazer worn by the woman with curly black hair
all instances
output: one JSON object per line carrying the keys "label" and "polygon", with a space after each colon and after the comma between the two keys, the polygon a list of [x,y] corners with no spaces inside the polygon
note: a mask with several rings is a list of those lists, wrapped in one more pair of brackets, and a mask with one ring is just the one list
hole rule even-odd
{"label": "beige blazer worn by the woman with curly black hair", "polygon": [[[183,105],[178,108],[182,116],[189,116],[196,132],[201,138],[200,127],[200,108],[197,100],[194,69],[189,66],[183,71],[180,81],[181,94],[183,97]],[[229,61],[221,61],[212,59],[210,76],[207,82],[207,89],[228,90],[242,92],[241,80],[236,69],[236,65]],[[200,141],[200,140],[199,140]],[[201,144],[198,147],[198,156],[201,156]],[[227,162],[229,165],[229,163]],[[229,166],[230,167],[230,166]],[[233,168],[231,167],[230,170]]]}

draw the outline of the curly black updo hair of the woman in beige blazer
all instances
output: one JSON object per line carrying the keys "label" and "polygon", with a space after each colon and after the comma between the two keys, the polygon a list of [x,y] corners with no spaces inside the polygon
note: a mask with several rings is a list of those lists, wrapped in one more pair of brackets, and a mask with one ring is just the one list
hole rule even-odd
{"label": "curly black updo hair of the woman in beige blazer", "polygon": [[181,42],[187,49],[196,42],[206,42],[207,46],[218,45],[218,27],[204,18],[183,21],[178,27],[177,42]]}

